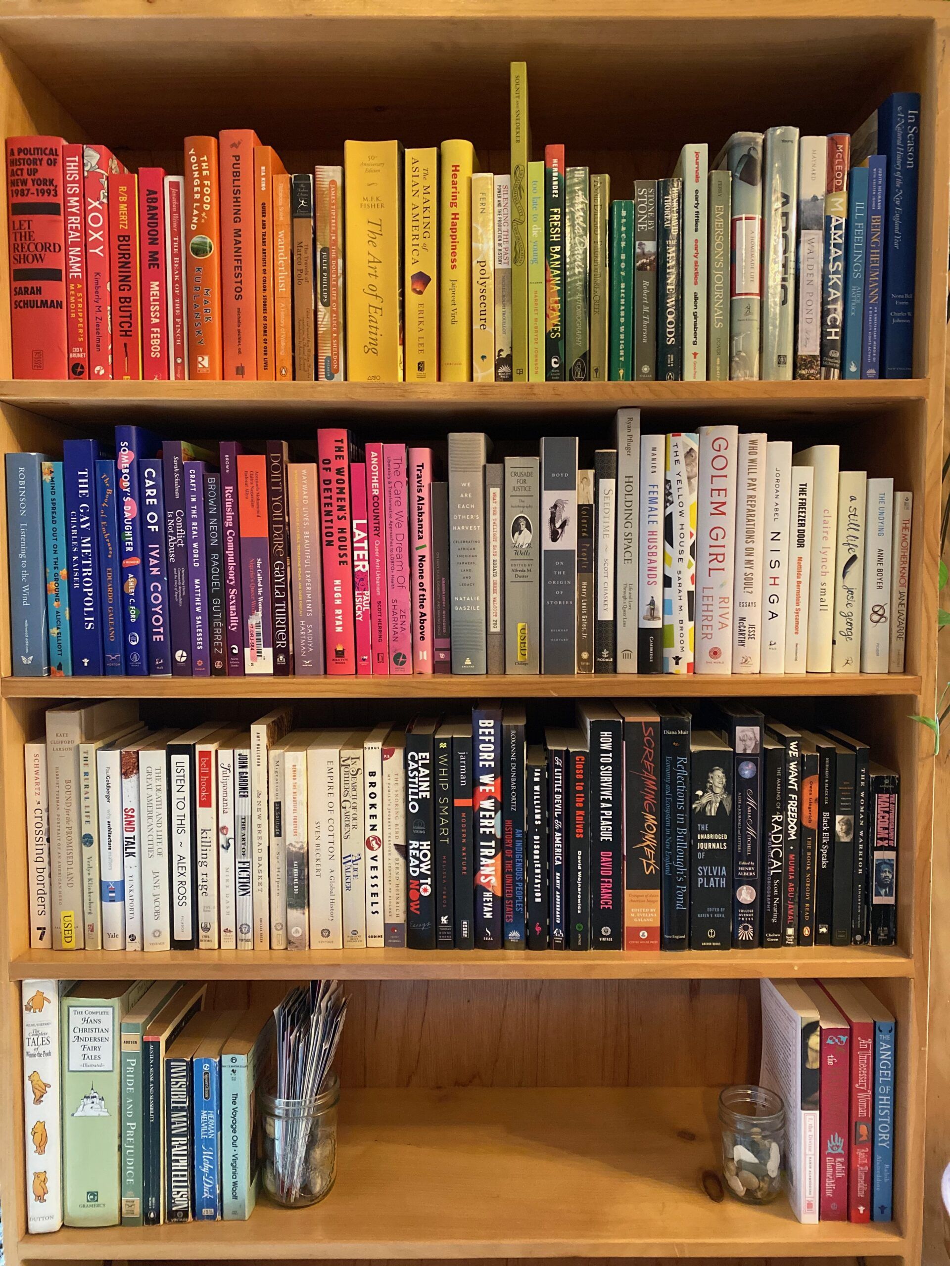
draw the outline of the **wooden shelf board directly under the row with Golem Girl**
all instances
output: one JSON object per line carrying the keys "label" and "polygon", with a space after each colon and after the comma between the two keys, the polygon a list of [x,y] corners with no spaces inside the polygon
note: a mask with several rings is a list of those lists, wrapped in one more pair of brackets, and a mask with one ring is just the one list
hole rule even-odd
{"label": "wooden shelf board directly under the row with Golem Girl", "polygon": [[589,674],[574,676],[464,677],[4,677],[6,699],[656,699],[918,695],[921,679],[906,672],[723,676],[695,674]]}

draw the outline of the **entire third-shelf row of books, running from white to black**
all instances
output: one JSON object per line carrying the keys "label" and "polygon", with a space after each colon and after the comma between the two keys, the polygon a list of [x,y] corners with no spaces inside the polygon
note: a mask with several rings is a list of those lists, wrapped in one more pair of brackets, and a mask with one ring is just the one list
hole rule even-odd
{"label": "entire third-shelf row of books, running from white to black", "polygon": [[[25,746],[30,944],[893,944],[899,779],[746,704],[149,732],[65,704]],[[708,725],[709,728],[700,728]],[[81,841],[81,847],[76,843]]]}

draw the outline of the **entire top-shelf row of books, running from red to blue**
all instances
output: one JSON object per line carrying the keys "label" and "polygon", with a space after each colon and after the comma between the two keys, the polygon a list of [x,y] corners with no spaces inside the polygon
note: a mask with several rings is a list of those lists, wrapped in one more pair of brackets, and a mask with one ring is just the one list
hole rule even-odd
{"label": "entire top-shelf row of books, running from red to blue", "polygon": [[532,158],[523,62],[510,105],[510,175],[469,141],[288,173],[227,130],[181,177],[8,138],[15,377],[911,376],[918,94],[854,137],[737,132],[712,171],[687,144],[613,200],[562,144]]}

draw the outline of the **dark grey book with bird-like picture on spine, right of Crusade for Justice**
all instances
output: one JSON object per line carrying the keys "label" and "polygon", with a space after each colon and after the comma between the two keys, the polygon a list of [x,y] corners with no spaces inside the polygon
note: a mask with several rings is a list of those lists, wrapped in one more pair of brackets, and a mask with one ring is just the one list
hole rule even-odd
{"label": "dark grey book with bird-like picture on spine, right of Crusade for Justice", "polygon": [[542,672],[575,671],[576,589],[578,439],[548,436],[541,441]]}

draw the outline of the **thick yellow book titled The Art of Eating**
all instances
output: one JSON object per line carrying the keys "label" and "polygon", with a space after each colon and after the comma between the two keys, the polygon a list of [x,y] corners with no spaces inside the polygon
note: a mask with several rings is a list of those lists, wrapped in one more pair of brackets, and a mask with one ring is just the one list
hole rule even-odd
{"label": "thick yellow book titled The Art of Eating", "polygon": [[346,346],[352,382],[403,381],[400,146],[347,141]]}

